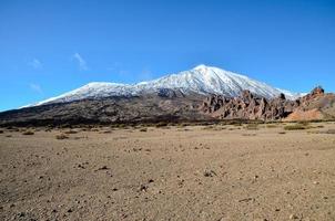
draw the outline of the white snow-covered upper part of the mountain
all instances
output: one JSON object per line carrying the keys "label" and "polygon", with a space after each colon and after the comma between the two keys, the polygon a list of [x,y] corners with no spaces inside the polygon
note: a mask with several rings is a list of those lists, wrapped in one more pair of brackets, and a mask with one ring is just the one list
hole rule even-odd
{"label": "white snow-covered upper part of the mountain", "polygon": [[288,99],[300,96],[297,93],[275,88],[241,74],[213,66],[199,65],[190,71],[170,74],[154,81],[138,84],[89,83],[78,90],[42,101],[35,105],[72,102],[83,98],[135,96],[166,88],[177,90],[184,94],[196,93],[202,95],[222,94],[238,96],[242,91],[248,90],[253,94],[266,98],[276,97],[281,93],[285,94]]}

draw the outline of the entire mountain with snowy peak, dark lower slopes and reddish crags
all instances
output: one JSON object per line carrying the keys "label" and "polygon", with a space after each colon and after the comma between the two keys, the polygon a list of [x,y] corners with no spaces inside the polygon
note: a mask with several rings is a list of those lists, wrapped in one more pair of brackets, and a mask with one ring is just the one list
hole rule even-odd
{"label": "entire mountain with snowy peak, dark lower slopes and reddish crags", "polygon": [[335,118],[335,95],[291,93],[205,65],[138,84],[90,83],[0,113],[0,125],[120,124],[213,119]]}

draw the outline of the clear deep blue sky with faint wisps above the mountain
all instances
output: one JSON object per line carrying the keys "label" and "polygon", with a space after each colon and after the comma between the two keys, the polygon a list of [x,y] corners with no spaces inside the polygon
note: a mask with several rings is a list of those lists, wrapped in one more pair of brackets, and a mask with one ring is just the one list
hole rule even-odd
{"label": "clear deep blue sky with faint wisps above the mountain", "polygon": [[199,64],[335,92],[335,1],[0,0],[0,112]]}

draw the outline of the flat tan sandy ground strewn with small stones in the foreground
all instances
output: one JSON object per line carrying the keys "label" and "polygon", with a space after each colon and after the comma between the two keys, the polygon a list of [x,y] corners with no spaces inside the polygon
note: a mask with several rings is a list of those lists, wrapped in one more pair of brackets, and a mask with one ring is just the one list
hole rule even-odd
{"label": "flat tan sandy ground strewn with small stones in the foreground", "polygon": [[313,126],[2,129],[0,220],[335,220],[335,124]]}

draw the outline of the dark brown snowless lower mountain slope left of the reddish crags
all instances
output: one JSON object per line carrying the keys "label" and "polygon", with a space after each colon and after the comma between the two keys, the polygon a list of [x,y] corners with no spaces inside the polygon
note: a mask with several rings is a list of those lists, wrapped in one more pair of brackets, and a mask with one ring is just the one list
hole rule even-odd
{"label": "dark brown snowless lower mountain slope left of the reddish crags", "polygon": [[2,112],[0,127],[205,120],[210,117],[199,112],[203,98],[151,94],[52,103]]}

